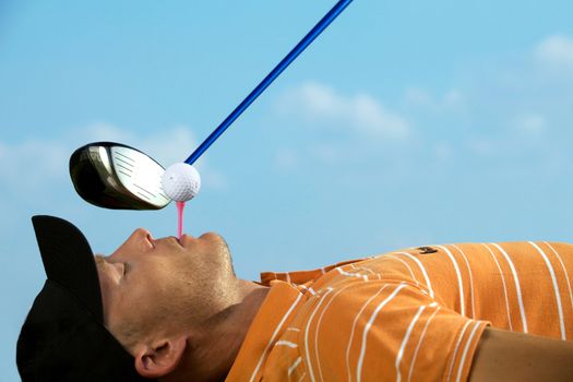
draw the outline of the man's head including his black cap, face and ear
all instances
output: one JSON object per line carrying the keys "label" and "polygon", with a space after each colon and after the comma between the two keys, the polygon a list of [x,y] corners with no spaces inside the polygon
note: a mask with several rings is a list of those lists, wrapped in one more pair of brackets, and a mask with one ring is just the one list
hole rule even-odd
{"label": "man's head including his black cap, face and ear", "polygon": [[48,279],[17,343],[23,381],[169,373],[190,335],[235,298],[228,249],[215,234],[154,240],[138,229],[110,256],[94,261],[70,223],[51,216],[33,223]]}

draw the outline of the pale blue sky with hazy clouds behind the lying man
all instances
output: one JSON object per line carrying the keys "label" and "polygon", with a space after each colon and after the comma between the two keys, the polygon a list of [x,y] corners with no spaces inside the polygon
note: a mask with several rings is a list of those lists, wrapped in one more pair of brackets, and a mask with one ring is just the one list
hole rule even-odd
{"label": "pale blue sky with hazy clouds behind the lying man", "polygon": [[[181,162],[334,4],[0,2],[0,375],[41,287],[31,216],[109,253],[175,205],[97,208],[68,159],[111,140]],[[198,163],[193,235],[239,276],[403,247],[573,236],[573,3],[354,1]]]}

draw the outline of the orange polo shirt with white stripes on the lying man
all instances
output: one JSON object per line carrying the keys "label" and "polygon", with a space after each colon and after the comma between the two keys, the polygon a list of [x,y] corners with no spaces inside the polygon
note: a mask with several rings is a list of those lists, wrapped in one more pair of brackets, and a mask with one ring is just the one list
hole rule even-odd
{"label": "orange polo shirt with white stripes on the lying man", "polygon": [[465,381],[487,325],[573,339],[573,244],[422,247],[270,286],[227,381]]}

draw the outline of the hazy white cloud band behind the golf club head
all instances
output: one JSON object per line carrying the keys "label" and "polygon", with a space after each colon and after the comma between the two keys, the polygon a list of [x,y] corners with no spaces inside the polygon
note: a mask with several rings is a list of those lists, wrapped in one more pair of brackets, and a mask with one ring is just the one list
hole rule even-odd
{"label": "hazy white cloud band behind the golf club head", "polygon": [[[0,187],[34,194],[47,183],[69,181],[69,158],[80,146],[97,141],[119,142],[148,154],[164,167],[182,162],[195,148],[189,128],[160,129],[151,135],[135,134],[110,123],[93,123],[68,132],[60,140],[26,140],[14,144],[0,142]],[[224,174],[201,159],[196,164],[203,184],[225,189]]]}

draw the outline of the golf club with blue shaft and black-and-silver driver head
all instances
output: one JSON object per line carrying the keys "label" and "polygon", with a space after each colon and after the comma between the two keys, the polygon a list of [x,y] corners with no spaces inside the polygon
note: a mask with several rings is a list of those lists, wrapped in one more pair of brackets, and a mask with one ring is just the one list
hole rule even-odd
{"label": "golf club with blue shaft and black-and-silver driver head", "polygon": [[[186,163],[192,165],[351,1],[339,0],[203,141]],[[131,171],[128,171],[128,168]],[[87,144],[77,148],[70,158],[70,175],[80,196],[94,205],[112,210],[165,207],[170,200],[162,187],[164,171],[150,156],[114,142]]]}

